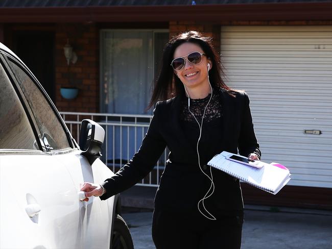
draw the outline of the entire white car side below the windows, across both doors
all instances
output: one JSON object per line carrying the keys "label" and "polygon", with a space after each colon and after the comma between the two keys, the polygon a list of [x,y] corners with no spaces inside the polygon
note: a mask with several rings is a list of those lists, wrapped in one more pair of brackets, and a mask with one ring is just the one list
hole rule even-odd
{"label": "entire white car side below the windows, across both doors", "polygon": [[[22,154],[0,155],[0,248],[108,248],[114,196],[82,202],[77,193],[83,182],[100,184],[114,173],[100,159],[91,166],[78,150]],[[25,210],[31,200],[41,208],[33,218]]]}

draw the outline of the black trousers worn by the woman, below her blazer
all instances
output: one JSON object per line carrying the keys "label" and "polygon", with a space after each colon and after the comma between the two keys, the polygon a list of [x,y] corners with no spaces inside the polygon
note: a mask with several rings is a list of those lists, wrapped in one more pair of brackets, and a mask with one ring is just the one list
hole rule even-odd
{"label": "black trousers worn by the woman, below her blazer", "polygon": [[240,249],[243,212],[205,218],[199,211],[154,210],[152,238],[157,249]]}

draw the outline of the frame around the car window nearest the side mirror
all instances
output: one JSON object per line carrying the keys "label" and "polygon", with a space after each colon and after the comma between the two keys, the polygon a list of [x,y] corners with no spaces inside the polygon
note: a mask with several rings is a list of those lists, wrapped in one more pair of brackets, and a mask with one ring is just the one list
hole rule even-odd
{"label": "frame around the car window nearest the side mirror", "polygon": [[[31,127],[35,133],[35,136],[36,136],[36,138],[38,138],[36,140],[38,142],[38,145],[40,146],[40,150],[42,152],[51,153],[51,154],[58,154],[58,153],[62,154],[67,151],[72,151],[73,148],[77,149],[78,148],[77,144],[74,142],[74,138],[72,137],[72,135],[68,131],[67,127],[65,126],[65,123],[63,122],[63,119],[61,118],[60,113],[57,111],[54,103],[51,101],[51,98],[48,96],[48,94],[45,92],[45,90],[41,87],[40,83],[38,82],[36,77],[33,75],[33,73],[29,70],[29,68],[24,63],[22,63],[19,59],[15,58],[13,55],[8,54],[4,51],[1,51],[1,53],[3,54],[3,58],[2,58],[3,64],[5,64],[4,67],[6,67],[9,79],[16,90],[16,94],[18,95],[22,106],[24,107],[24,109],[26,111],[26,115],[28,116],[28,119],[29,119]],[[43,142],[43,139],[42,139],[41,131],[40,131],[37,121],[33,115],[33,111],[30,108],[29,101],[28,101],[25,93],[22,91],[22,89],[18,83],[19,79],[16,78],[16,76],[14,74],[14,70],[13,70],[12,66],[10,65],[10,63],[15,63],[21,70],[23,70],[30,77],[30,79],[37,86],[37,88],[40,90],[41,94],[46,99],[46,102],[50,105],[54,114],[58,118],[58,120],[61,124],[61,127],[66,134],[66,138],[67,138],[68,144],[69,144],[68,148],[62,148],[59,150],[48,150],[46,148],[46,146]]]}

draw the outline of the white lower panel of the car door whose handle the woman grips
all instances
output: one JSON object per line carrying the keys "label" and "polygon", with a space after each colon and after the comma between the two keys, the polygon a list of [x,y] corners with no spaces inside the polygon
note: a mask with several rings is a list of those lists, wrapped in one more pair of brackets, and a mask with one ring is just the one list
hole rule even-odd
{"label": "white lower panel of the car door whose handle the woman grips", "polygon": [[[76,191],[84,182],[101,184],[114,173],[97,159],[92,166],[87,159],[80,155],[80,151],[56,156],[72,176]],[[79,201],[82,222],[83,248],[108,248],[110,244],[110,231],[112,215],[109,210],[113,208],[114,197],[109,202],[101,201],[99,197],[90,197],[88,202]],[[93,238],[91,240],[90,238]]]}

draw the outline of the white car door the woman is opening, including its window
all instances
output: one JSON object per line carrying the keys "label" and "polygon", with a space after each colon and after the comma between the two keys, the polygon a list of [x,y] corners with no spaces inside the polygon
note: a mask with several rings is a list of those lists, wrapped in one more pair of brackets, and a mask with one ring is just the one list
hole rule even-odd
{"label": "white car door the woman is opening, including its window", "polygon": [[[91,165],[87,159],[80,155],[80,151],[68,150],[70,134],[67,133],[63,121],[59,119],[59,113],[52,107],[51,101],[34,82],[29,72],[14,60],[8,60],[8,64],[15,74],[18,84],[22,88],[30,108],[33,110],[37,126],[40,130],[41,140],[46,150],[53,157],[53,160],[66,168],[72,178],[75,191],[80,191],[80,184],[84,182],[102,183],[106,177],[101,164]],[[51,104],[51,105],[50,105]],[[111,171],[109,171],[109,174]],[[109,175],[108,174],[108,175]],[[108,201],[101,201],[100,198],[90,198],[89,202],[78,202],[79,217],[81,219],[81,231],[75,236],[82,236],[83,248],[107,248],[109,247],[111,231],[110,208],[113,207],[111,198]],[[112,211],[112,210],[111,210]]]}

